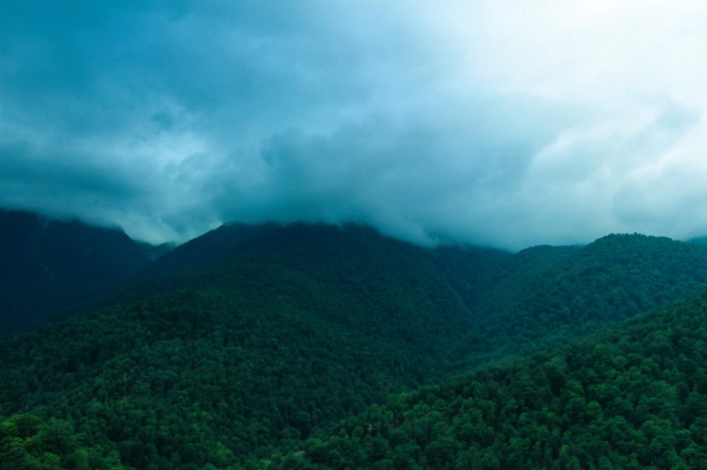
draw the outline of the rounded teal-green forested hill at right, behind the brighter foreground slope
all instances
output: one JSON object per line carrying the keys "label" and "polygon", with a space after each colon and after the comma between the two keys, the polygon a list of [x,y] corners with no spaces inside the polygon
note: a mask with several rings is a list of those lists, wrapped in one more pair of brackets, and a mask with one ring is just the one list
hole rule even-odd
{"label": "rounded teal-green forested hill at right, behind the brighter foreground slope", "polygon": [[588,246],[539,246],[498,265],[468,303],[477,320],[457,355],[477,367],[568,343],[602,326],[707,290],[707,247],[609,235]]}

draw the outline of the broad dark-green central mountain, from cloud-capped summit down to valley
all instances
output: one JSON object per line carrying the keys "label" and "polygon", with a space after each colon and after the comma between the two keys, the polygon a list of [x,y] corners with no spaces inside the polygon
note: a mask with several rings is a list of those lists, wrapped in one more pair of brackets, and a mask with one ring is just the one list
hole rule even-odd
{"label": "broad dark-green central mountain, from cloud-capped summit down to valley", "polygon": [[69,423],[96,462],[226,468],[450,374],[469,311],[429,258],[362,227],[232,230],[209,235],[227,256],[187,243],[121,302],[0,343],[2,411]]}

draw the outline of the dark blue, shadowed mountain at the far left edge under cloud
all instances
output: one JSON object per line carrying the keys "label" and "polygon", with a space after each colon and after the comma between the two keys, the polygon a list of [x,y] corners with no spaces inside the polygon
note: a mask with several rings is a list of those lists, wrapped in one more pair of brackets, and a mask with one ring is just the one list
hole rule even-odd
{"label": "dark blue, shadowed mountain at the far left edge under cloud", "polygon": [[119,229],[0,210],[0,334],[36,326],[147,262]]}

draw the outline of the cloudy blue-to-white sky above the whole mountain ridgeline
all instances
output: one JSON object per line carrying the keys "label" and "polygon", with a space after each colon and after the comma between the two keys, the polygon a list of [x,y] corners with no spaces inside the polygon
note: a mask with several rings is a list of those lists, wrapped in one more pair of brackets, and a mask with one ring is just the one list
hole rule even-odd
{"label": "cloudy blue-to-white sky above the whole mountain ridgeline", "polygon": [[0,207],[182,242],[707,235],[707,3],[0,2]]}

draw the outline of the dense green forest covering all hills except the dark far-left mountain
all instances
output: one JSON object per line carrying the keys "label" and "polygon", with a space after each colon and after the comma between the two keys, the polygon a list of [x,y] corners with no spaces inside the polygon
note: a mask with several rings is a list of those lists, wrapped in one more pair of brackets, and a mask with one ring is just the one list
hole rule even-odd
{"label": "dense green forest covering all hills except the dark far-left mountain", "polygon": [[224,226],[0,340],[0,469],[696,468],[704,291],[638,234]]}

